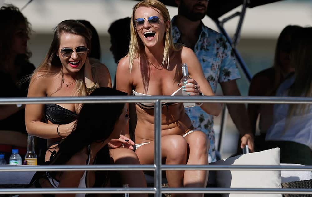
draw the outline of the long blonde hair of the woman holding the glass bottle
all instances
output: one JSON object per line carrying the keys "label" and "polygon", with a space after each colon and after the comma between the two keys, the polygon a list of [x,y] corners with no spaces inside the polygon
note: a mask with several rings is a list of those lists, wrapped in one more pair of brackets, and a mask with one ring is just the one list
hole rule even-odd
{"label": "long blonde hair of the woman holding the glass bottle", "polygon": [[[141,38],[139,37],[136,28],[134,27],[134,21],[135,21],[135,11],[139,8],[139,7],[150,7],[150,8],[154,8],[160,11],[160,14],[163,16],[163,20],[164,22],[166,21],[170,21],[170,15],[169,15],[169,11],[166,8],[166,6],[161,3],[160,1],[157,0],[143,0],[139,3],[137,3],[133,9],[132,9],[132,16],[131,16],[131,25],[130,25],[130,45],[129,45],[129,52],[128,52],[128,57],[129,57],[129,71],[131,72],[132,70],[132,65],[134,62],[135,58],[139,58],[140,57],[140,50],[142,48],[144,48],[144,43],[141,40]],[[174,42],[173,42],[173,38],[172,38],[172,28],[171,28],[171,23],[170,26],[166,28],[166,32],[165,32],[165,39],[164,39],[164,50],[163,50],[163,61],[161,63],[162,66],[164,66],[164,64],[167,64],[167,68],[169,69],[169,53],[171,50],[173,51],[178,51],[181,49],[181,47],[177,47]]]}

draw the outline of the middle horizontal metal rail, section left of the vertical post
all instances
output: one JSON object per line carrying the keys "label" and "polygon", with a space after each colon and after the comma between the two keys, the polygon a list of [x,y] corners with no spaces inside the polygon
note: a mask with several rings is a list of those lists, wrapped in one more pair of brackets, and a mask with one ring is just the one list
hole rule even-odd
{"label": "middle horizontal metal rail, section left of the vertical post", "polygon": [[119,171],[119,170],[144,170],[155,171],[154,165],[0,165],[0,172],[22,172],[22,171]]}

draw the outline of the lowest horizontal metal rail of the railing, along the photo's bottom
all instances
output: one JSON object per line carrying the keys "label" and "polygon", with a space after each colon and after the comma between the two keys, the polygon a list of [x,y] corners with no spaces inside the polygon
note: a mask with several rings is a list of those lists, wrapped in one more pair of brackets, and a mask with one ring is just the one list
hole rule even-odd
{"label": "lowest horizontal metal rail of the railing, along the photo's bottom", "polygon": [[[1,188],[0,194],[154,194],[155,188]],[[312,194],[302,188],[162,188],[161,193],[244,193],[244,194]]]}

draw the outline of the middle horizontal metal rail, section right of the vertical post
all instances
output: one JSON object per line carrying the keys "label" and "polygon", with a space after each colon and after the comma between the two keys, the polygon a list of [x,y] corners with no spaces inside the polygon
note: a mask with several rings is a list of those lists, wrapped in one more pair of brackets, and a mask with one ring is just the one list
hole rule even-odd
{"label": "middle horizontal metal rail, section right of the vertical post", "polygon": [[312,171],[312,166],[289,165],[162,165],[162,170]]}

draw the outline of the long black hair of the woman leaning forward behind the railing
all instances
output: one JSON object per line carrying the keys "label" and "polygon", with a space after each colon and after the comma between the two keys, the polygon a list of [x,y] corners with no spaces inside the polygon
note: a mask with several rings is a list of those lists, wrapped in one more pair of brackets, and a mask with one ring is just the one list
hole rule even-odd
{"label": "long black hair of the woman leaning forward behind the railing", "polygon": [[[101,87],[95,89],[90,96],[126,96],[127,93],[112,88]],[[58,144],[58,152],[50,158],[50,165],[66,164],[71,157],[93,142],[104,142],[114,130],[115,122],[121,115],[124,103],[95,103],[83,104],[78,114],[76,125],[65,139]],[[98,156],[100,155],[100,156]],[[105,145],[94,158],[95,164],[109,164],[108,146]],[[53,177],[59,171],[49,174]],[[45,175],[45,172],[36,173],[30,186]],[[94,187],[101,187],[107,182],[105,171],[96,171]]]}

